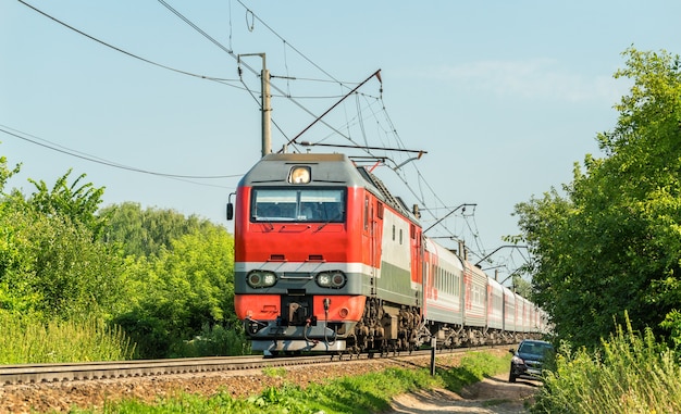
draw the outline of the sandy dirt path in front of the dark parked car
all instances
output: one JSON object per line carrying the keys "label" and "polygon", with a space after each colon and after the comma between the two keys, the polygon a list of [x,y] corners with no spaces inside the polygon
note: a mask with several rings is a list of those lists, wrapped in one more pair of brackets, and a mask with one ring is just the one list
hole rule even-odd
{"label": "sandy dirt path in front of the dark parked car", "polygon": [[525,403],[532,401],[540,384],[523,379],[509,384],[507,379],[508,374],[485,378],[465,388],[461,394],[444,389],[403,394],[393,400],[393,410],[386,414],[529,413]]}

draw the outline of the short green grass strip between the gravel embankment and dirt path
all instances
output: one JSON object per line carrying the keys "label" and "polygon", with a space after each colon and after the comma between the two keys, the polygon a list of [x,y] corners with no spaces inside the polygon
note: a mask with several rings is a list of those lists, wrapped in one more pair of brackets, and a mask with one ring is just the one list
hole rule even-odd
{"label": "short green grass strip between the gravel embankment and dirt path", "polygon": [[[139,401],[122,401],[107,404],[99,411],[73,413],[286,413],[286,414],[369,414],[385,411],[393,397],[423,389],[447,388],[460,390],[484,376],[495,375],[507,368],[508,357],[495,357],[484,352],[466,354],[460,366],[436,369],[431,376],[429,368],[388,368],[381,373],[343,377],[302,389],[293,385],[268,388],[259,396],[234,399],[228,390],[205,398],[183,393],[160,399],[156,404]],[[282,375],[278,369],[268,375]]]}

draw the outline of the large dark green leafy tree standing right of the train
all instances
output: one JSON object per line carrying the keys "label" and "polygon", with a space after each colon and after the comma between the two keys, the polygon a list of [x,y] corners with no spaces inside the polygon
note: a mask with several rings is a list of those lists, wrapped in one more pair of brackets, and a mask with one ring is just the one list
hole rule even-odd
{"label": "large dark green leafy tree standing right of the train", "polygon": [[626,310],[658,327],[681,300],[681,71],[666,52],[624,52],[633,80],[619,120],[598,135],[567,197],[552,189],[516,206],[535,258],[533,299],[564,339],[596,346]]}

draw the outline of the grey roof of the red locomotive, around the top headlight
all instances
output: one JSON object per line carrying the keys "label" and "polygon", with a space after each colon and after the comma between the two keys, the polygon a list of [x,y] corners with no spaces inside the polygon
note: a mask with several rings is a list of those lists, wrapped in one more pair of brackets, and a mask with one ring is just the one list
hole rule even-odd
{"label": "grey roof of the red locomotive, around the top headlight", "polygon": [[239,185],[283,185],[288,184],[288,171],[293,165],[311,165],[312,180],[309,186],[344,184],[349,187],[364,187],[386,204],[399,211],[411,221],[417,221],[407,206],[393,196],[383,183],[363,166],[357,166],[342,153],[271,153],[263,156],[246,173]]}

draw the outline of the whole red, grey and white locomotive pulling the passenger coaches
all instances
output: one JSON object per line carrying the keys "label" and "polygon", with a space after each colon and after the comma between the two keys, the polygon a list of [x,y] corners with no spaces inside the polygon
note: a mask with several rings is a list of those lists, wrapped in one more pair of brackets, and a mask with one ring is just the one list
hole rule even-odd
{"label": "whole red, grey and white locomotive pulling the passenger coaches", "polygon": [[235,310],[252,350],[412,347],[420,226],[363,167],[344,154],[265,155],[233,212]]}

